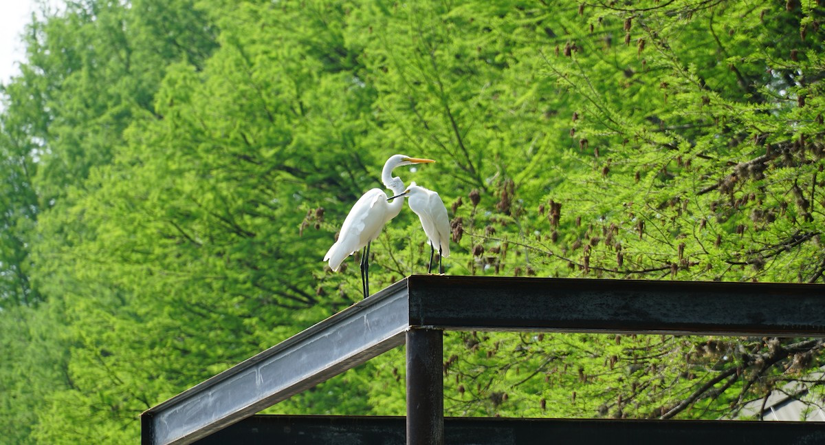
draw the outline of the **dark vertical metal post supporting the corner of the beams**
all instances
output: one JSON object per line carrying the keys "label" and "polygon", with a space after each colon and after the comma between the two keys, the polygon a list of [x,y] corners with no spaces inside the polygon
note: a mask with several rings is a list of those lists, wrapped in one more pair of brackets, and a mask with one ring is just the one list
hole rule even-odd
{"label": "dark vertical metal post supporting the corner of the beams", "polygon": [[440,329],[407,331],[407,445],[444,444],[444,338]]}

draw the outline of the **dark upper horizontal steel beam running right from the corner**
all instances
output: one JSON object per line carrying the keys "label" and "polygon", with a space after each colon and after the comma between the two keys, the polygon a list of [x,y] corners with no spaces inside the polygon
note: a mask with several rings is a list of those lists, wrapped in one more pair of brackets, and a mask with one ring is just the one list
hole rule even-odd
{"label": "dark upper horizontal steel beam running right from the corner", "polygon": [[443,329],[825,335],[825,286],[408,278],[410,324]]}

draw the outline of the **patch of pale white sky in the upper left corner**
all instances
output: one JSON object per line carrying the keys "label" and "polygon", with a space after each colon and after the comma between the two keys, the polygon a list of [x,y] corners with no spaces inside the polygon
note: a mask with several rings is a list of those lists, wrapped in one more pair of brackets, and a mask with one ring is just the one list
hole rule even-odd
{"label": "patch of pale white sky in the upper left corner", "polygon": [[18,73],[16,62],[25,56],[21,33],[31,21],[35,0],[3,0],[0,6],[0,83]]}

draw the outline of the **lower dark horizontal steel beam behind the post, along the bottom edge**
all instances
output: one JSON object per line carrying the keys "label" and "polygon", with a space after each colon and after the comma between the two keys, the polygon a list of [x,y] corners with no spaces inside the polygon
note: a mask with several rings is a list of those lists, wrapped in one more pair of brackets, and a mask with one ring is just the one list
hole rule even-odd
{"label": "lower dark horizontal steel beam behind the post, along the bottom edge", "polygon": [[[825,424],[615,419],[445,419],[446,445],[811,445],[825,443]],[[403,417],[257,415],[198,445],[403,445]]]}

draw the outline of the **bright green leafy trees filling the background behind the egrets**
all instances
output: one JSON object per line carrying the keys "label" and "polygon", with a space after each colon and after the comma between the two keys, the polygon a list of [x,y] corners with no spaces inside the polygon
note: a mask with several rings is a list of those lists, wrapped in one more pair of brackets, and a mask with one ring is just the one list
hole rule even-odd
{"label": "bright green leafy trees filling the background behind the egrets", "polygon": [[[823,7],[75,0],[0,112],[0,430],[139,414],[360,298],[321,262],[391,154],[451,275],[823,282]],[[424,272],[405,210],[374,290]],[[347,264],[345,263],[345,264]],[[735,415],[823,341],[448,333],[450,415]],[[818,386],[821,388],[822,386]],[[814,401],[822,402],[817,395]],[[403,350],[272,411],[403,414]]]}

